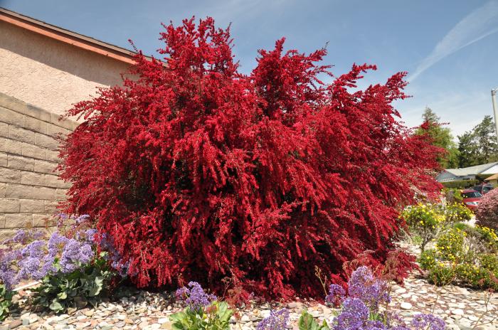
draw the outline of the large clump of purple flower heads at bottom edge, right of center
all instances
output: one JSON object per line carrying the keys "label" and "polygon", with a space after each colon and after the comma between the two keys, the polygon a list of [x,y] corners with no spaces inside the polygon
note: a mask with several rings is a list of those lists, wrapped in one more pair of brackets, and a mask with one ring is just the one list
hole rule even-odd
{"label": "large clump of purple flower heads at bottom edge, right of center", "polygon": [[373,276],[368,267],[356,269],[344,289],[332,284],[327,302],[341,303],[341,313],[334,319],[334,330],[444,330],[445,322],[432,314],[418,314],[410,324],[398,314],[381,313],[379,307],[391,302],[386,281]]}

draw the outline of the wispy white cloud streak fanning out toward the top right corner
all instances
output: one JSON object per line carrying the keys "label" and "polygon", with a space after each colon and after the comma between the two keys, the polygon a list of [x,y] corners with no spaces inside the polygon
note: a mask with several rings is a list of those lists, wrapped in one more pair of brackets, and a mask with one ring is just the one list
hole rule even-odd
{"label": "wispy white cloud streak fanning out toward the top right corner", "polygon": [[498,32],[498,1],[489,1],[468,14],[441,39],[408,77],[412,82],[425,70],[457,50]]}

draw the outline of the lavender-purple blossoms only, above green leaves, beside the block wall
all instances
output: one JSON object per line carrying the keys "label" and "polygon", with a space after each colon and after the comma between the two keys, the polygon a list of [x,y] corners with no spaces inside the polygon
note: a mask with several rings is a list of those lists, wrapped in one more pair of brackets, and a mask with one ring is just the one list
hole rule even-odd
{"label": "lavender-purple blossoms only, above green leaves, beside the block wall", "polygon": [[[105,235],[99,238],[97,230],[88,228],[88,221],[88,215],[72,218],[60,214],[58,230],[50,236],[41,230],[18,230],[13,238],[4,241],[5,248],[0,249],[0,281],[6,289],[13,289],[22,280],[41,280],[59,271],[68,274],[80,269],[95,257],[97,243],[108,251],[105,256],[113,267],[126,270],[110,240]],[[69,222],[73,225],[68,228]]]}

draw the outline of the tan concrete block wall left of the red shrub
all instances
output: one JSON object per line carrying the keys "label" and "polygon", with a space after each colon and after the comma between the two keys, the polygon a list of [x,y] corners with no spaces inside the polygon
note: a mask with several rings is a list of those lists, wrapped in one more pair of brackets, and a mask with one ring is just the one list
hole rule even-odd
{"label": "tan concrete block wall left of the red shrub", "polygon": [[16,228],[44,227],[66,199],[58,179],[58,133],[77,122],[0,93],[0,241]]}

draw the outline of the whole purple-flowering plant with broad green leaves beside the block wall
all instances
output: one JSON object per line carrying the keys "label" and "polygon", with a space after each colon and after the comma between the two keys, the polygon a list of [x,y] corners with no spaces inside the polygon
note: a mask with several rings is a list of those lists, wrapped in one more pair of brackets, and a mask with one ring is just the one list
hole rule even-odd
{"label": "whole purple-flowering plant with broad green leaves beside the block wall", "polygon": [[0,249],[0,281],[9,291],[23,281],[40,281],[34,302],[55,312],[97,304],[118,260],[114,251],[102,250],[91,225],[88,215],[61,214],[53,233],[18,230]]}

